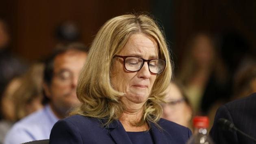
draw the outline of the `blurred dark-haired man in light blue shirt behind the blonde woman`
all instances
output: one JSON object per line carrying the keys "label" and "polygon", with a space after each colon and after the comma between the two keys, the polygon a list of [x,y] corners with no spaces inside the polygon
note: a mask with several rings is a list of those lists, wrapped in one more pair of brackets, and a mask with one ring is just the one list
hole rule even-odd
{"label": "blurred dark-haired man in light blue shirt behind the blonde woman", "polygon": [[5,144],[49,139],[52,126],[80,105],[76,97],[78,75],[87,58],[82,44],[58,48],[46,61],[43,89],[46,106],[18,121],[7,134]]}

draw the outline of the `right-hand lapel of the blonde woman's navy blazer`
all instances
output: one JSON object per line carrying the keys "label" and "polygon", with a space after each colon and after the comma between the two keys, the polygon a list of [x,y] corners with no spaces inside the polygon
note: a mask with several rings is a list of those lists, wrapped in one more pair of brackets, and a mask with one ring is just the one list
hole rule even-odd
{"label": "right-hand lapel of the blonde woman's navy blazer", "polygon": [[[151,123],[151,130],[152,130],[152,137],[154,140],[154,144],[170,144],[170,142],[167,141],[166,135],[163,132],[164,129],[158,129],[154,123]],[[171,137],[169,138],[171,139]]]}

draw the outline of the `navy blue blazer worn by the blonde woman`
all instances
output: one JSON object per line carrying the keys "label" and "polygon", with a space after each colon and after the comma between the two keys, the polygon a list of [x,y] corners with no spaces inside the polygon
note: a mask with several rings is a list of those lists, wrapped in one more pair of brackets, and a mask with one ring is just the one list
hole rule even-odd
{"label": "navy blue blazer worn by the blonde woman", "polygon": [[[185,144],[191,131],[171,121],[160,119],[159,130],[151,123],[152,139],[155,144]],[[70,116],[58,121],[52,128],[50,144],[132,144],[120,121],[102,127],[102,121],[81,115]]]}

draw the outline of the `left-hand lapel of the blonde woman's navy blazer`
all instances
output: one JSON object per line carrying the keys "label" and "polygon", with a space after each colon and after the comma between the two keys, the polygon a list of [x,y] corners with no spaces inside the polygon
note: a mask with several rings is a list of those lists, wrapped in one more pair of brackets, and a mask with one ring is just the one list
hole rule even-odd
{"label": "left-hand lapel of the blonde woman's navy blazer", "polygon": [[108,127],[111,137],[117,144],[132,144],[128,134],[126,133],[120,121],[113,121]]}

